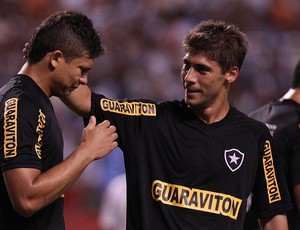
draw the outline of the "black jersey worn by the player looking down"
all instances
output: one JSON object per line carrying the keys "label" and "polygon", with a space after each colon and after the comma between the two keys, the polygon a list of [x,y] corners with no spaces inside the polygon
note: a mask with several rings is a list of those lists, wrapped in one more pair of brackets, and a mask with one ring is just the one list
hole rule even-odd
{"label": "black jersey worn by the player looking down", "polygon": [[[63,138],[49,98],[28,76],[17,75],[0,89],[2,172],[36,168],[45,172],[63,160]],[[12,207],[0,177],[1,230],[63,230],[63,198],[29,218]]]}

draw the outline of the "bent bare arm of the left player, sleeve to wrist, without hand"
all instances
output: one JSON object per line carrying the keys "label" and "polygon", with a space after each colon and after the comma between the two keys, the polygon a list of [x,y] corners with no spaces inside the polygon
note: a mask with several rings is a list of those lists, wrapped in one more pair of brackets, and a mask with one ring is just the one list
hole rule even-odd
{"label": "bent bare arm of the left player, sleeve to wrist, without hand", "polygon": [[10,178],[7,180],[8,192],[15,210],[29,217],[58,199],[92,161],[82,155],[82,151],[74,152],[64,162],[42,174],[37,169],[6,171],[5,177]]}

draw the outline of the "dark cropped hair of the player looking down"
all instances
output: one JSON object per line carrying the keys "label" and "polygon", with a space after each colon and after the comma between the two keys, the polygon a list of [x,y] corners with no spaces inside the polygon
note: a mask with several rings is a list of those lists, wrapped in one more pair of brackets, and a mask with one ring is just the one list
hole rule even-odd
{"label": "dark cropped hair of the player looking down", "polygon": [[37,63],[54,50],[62,51],[64,58],[71,61],[85,51],[95,59],[104,53],[104,46],[86,15],[76,11],[59,11],[36,28],[29,42],[26,60],[30,64]]}

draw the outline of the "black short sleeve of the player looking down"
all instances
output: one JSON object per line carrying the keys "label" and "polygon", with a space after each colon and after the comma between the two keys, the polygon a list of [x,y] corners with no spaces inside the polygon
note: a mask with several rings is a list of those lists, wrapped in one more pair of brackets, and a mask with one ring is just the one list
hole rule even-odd
{"label": "black short sleeve of the player looking down", "polygon": [[41,169],[45,117],[29,98],[9,98],[3,116],[2,171],[12,168]]}

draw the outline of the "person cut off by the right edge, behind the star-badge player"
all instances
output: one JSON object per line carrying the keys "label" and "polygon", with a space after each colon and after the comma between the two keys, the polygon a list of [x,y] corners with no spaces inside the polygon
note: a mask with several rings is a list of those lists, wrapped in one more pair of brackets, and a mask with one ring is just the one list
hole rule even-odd
{"label": "person cut off by the right edge, behind the star-badge player", "polygon": [[[284,168],[286,180],[293,204],[293,209],[287,212],[289,229],[300,229],[300,59],[296,64],[291,88],[286,94],[273,100],[249,114],[264,122],[274,138]],[[250,209],[247,222],[257,226]],[[251,214],[252,213],[252,214]],[[255,216],[255,214],[254,214]]]}

